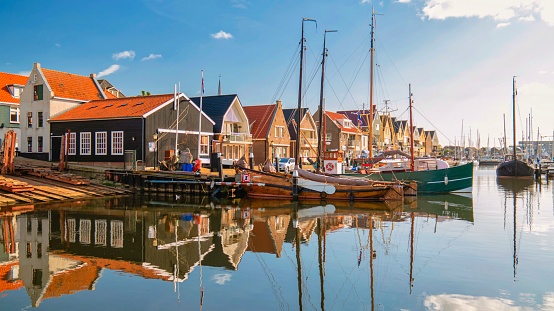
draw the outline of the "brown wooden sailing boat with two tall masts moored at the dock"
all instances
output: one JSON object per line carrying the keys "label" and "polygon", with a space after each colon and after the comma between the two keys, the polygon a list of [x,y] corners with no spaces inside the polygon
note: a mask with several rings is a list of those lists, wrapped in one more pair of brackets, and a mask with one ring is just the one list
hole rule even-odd
{"label": "brown wooden sailing boat with two tall masts moored at the dock", "polygon": [[[315,21],[302,19],[302,37],[300,40],[300,79],[298,87],[298,114],[296,124],[300,132],[300,120],[302,120],[302,66],[304,59],[304,22]],[[326,31],[327,33],[327,31]],[[325,39],[323,44],[323,62],[325,64]],[[321,74],[324,74],[322,69]],[[323,77],[322,77],[323,85]],[[323,92],[321,92],[323,96]],[[322,101],[321,101],[322,102]],[[322,107],[320,107],[321,111]],[[322,122],[319,122],[321,127]],[[320,129],[321,132],[321,129]],[[321,140],[322,137],[319,137]],[[321,148],[320,148],[321,150]],[[250,172],[251,186],[244,188],[250,197],[262,198],[286,198],[297,200],[346,200],[346,201],[384,201],[402,200],[404,197],[403,185],[400,182],[381,182],[362,179],[340,178],[335,176],[314,174],[300,169],[300,139],[296,140],[296,161],[293,176],[279,173],[265,173],[253,170]],[[321,153],[318,154],[318,163],[321,163]],[[243,169],[244,170],[244,169]],[[260,184],[263,184],[260,185]]]}

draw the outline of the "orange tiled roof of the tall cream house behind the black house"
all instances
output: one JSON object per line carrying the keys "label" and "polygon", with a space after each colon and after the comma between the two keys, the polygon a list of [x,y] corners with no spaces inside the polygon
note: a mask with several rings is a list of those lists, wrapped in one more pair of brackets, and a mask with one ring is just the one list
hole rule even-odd
{"label": "orange tiled roof of the tall cream house behind the black house", "polygon": [[54,91],[54,96],[82,101],[103,99],[101,92],[91,77],[71,73],[40,69]]}

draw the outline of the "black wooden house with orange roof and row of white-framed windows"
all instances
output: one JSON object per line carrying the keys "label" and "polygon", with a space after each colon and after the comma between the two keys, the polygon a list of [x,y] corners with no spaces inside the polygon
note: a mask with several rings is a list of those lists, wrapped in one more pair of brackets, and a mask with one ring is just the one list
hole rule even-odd
{"label": "black wooden house with orange roof and row of white-framed windows", "polygon": [[[200,109],[183,93],[95,100],[49,120],[52,159],[60,157],[62,136],[67,137],[68,161],[122,167],[136,159],[153,167],[166,150],[189,148],[198,157]],[[177,109],[179,123],[176,127]],[[209,163],[214,121],[202,112],[200,158]]]}

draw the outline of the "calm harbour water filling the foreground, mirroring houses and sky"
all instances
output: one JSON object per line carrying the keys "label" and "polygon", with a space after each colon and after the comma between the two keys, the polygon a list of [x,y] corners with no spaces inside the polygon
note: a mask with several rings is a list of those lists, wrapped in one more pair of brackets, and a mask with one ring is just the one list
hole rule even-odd
{"label": "calm harbour water filling the foreground, mirroring houses and sky", "polygon": [[2,209],[0,310],[553,310],[553,184],[479,168],[473,198],[403,205]]}

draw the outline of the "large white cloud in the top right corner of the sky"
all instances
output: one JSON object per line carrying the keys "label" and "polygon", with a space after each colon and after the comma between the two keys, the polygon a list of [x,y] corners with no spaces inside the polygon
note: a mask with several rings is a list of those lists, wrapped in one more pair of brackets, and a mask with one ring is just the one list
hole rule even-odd
{"label": "large white cloud in the top right corner of the sky", "polygon": [[534,20],[532,14],[550,26],[554,26],[554,1],[552,0],[429,0],[423,8],[428,19],[449,17],[492,17],[496,21],[519,18]]}

